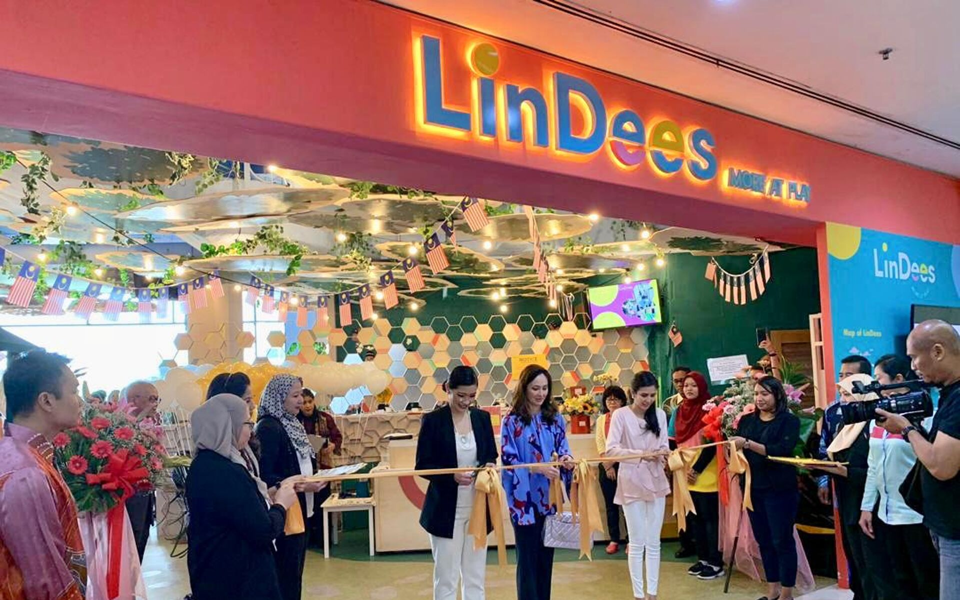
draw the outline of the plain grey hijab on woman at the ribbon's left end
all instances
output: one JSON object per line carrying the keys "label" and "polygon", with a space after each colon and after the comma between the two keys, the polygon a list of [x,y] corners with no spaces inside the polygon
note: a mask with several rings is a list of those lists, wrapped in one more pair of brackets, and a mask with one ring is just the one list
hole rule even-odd
{"label": "plain grey hijab on woman at the ribbon's left end", "polygon": [[247,403],[240,396],[218,394],[206,400],[190,415],[193,444],[197,450],[213,450],[220,456],[247,469],[260,495],[269,503],[267,485],[250,471],[247,461],[234,442],[248,420]]}

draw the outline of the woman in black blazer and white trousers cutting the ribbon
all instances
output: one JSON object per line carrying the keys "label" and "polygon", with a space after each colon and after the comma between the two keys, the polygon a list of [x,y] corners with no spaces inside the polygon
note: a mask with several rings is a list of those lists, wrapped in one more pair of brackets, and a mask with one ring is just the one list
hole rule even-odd
{"label": "woman in black blazer and white trousers cutting the ribbon", "polygon": [[[423,415],[420,423],[417,468],[492,467],[497,452],[490,413],[472,406],[477,396],[476,372],[464,366],[455,368],[444,390],[449,397],[447,405]],[[434,600],[456,600],[461,586],[462,600],[482,600],[487,548],[475,549],[473,538],[467,534],[473,508],[473,473],[425,478],[430,485],[420,525],[430,534]],[[488,515],[488,533],[491,529]]]}

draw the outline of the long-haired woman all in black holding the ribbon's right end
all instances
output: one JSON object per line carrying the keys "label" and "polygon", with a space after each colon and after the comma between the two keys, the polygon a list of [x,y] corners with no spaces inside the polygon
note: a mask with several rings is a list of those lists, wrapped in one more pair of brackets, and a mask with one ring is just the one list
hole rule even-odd
{"label": "long-haired woman all in black holding the ribbon's right end", "polygon": [[800,440],[800,420],[787,410],[786,392],[772,375],[756,382],[754,403],[756,412],[740,419],[732,442],[745,450],[752,474],[754,510],[748,514],[767,580],[767,595],[760,600],[792,600],[797,585],[793,538],[800,503],[797,471],[767,457],[793,456]]}

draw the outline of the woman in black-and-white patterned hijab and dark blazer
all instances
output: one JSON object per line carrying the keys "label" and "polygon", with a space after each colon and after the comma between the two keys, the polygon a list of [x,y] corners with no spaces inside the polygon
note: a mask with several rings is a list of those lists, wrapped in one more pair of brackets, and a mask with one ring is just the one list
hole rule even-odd
{"label": "woman in black-and-white patterned hijab and dark blazer", "polygon": [[[256,437],[260,441],[260,477],[268,486],[276,486],[287,477],[314,472],[315,452],[302,423],[297,420],[303,404],[302,393],[300,377],[284,373],[274,375],[260,396]],[[320,492],[325,486],[325,482],[297,484],[304,522],[313,515],[314,492]],[[300,600],[306,541],[306,533],[276,539],[276,574],[283,600]]]}

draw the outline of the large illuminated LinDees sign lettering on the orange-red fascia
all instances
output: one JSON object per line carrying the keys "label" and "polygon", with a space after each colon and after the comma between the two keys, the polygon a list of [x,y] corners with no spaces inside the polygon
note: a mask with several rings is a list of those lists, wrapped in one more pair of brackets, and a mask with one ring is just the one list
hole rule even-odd
{"label": "large illuminated LinDees sign lettering on the orange-red fascia", "polygon": [[[645,121],[631,108],[609,109],[587,80],[553,71],[544,92],[494,79],[500,56],[490,43],[471,46],[470,109],[444,104],[444,65],[438,37],[414,37],[417,125],[423,132],[483,141],[499,139],[539,148],[561,159],[589,159],[601,151],[620,169],[644,162],[660,177],[682,173],[694,183],[718,180],[725,192],[741,192],[791,204],[810,201],[807,183],[753,170],[721,171],[717,141],[703,127],[672,119]],[[575,126],[575,121],[577,125]],[[721,176],[718,178],[718,176]]]}

